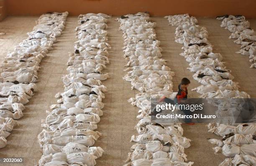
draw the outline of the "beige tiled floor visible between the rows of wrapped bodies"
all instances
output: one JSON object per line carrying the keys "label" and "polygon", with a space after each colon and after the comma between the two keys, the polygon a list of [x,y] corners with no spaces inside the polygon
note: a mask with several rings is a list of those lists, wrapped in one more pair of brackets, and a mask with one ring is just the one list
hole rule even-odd
{"label": "beige tiled floor visible between the rows of wrapped bodies", "polygon": [[[0,62],[6,56],[8,51],[13,51],[13,47],[18,45],[26,38],[26,32],[31,31],[35,25],[34,21],[38,17],[7,17],[0,22],[0,32],[6,32],[6,35],[0,36]],[[99,166],[121,166],[127,157],[132,143],[131,135],[136,134],[133,129],[138,122],[136,119],[138,109],[131,106],[127,99],[134,97],[136,91],[131,91],[131,85],[124,82],[122,77],[123,65],[126,61],[123,59],[123,38],[121,31],[118,31],[119,23],[110,19],[108,23],[109,43],[112,46],[110,53],[110,64],[104,72],[110,74],[110,78],[103,82],[108,87],[104,99],[104,115],[98,124],[98,130],[102,137],[96,141],[95,146],[101,146],[105,153],[97,159]],[[156,35],[161,41],[163,49],[163,58],[168,61],[168,66],[176,73],[174,76],[174,91],[182,77],[188,77],[191,80],[189,89],[200,85],[192,79],[192,73],[186,68],[188,63],[184,57],[179,56],[182,52],[182,45],[174,42],[175,27],[168,26],[164,18],[153,17],[152,20],[157,23]],[[252,28],[256,29],[256,20],[250,20]],[[228,69],[233,71],[235,81],[241,85],[241,90],[256,96],[256,90],[253,87],[255,79],[255,70],[249,68],[248,57],[241,56],[235,52],[239,45],[228,39],[230,32],[221,28],[220,21],[215,19],[199,19],[199,25],[205,26],[210,33],[209,40],[215,45],[215,52],[223,55],[223,61],[226,62]],[[66,28],[58,38],[59,42],[54,45],[54,50],[50,51],[41,62],[41,69],[38,72],[39,82],[37,83],[39,91],[26,105],[24,117],[19,120],[20,126],[17,126],[8,137],[8,145],[0,149],[0,157],[24,157],[24,165],[29,166],[38,162],[41,157],[41,151],[37,143],[36,136],[42,130],[40,127],[41,119],[46,117],[45,110],[56,102],[54,94],[63,90],[61,77],[66,73],[66,62],[68,52],[73,50],[74,28],[77,26],[77,17],[67,17]],[[195,92],[189,92],[189,97],[197,97]],[[216,166],[223,161],[222,154],[215,155],[212,151],[212,145],[207,142],[207,138],[219,138],[214,134],[207,133],[205,124],[195,124],[193,126],[183,125],[184,136],[192,139],[192,146],[185,150],[189,161],[194,161],[195,166]],[[5,164],[7,165],[7,164]],[[15,165],[15,164],[12,164]]]}

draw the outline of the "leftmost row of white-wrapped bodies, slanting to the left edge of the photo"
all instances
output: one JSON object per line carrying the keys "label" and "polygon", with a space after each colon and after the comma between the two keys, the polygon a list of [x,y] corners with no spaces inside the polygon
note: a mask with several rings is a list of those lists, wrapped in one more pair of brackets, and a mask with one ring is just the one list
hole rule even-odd
{"label": "leftmost row of white-wrapped bodies, slanting to the left edge of the photo", "polygon": [[56,37],[64,30],[68,12],[41,15],[28,38],[8,52],[0,64],[0,148],[6,146],[6,137],[17,124],[29,99],[36,92],[37,71],[41,60],[53,50]]}

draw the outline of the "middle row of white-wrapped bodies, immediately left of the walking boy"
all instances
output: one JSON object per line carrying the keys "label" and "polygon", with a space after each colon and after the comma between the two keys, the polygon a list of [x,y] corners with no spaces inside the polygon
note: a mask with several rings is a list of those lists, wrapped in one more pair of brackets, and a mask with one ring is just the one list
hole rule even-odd
{"label": "middle row of white-wrapped bodies, immediately left of the walking boy", "polygon": [[131,89],[141,93],[131,98],[133,106],[138,107],[140,119],[135,129],[138,135],[131,137],[135,142],[125,166],[191,166],[185,163],[187,155],[184,148],[190,146],[190,139],[183,137],[179,121],[173,124],[151,123],[151,99],[174,98],[172,77],[174,72],[165,66],[161,59],[160,41],[156,40],[155,22],[150,22],[148,13],[138,12],[135,15],[124,15],[117,19],[124,37],[124,57],[128,60],[123,79],[131,82]]}

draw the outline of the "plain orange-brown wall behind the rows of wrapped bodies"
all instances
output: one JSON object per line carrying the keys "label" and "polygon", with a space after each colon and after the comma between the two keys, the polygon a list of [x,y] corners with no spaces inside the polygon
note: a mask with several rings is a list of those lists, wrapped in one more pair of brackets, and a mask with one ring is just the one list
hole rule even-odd
{"label": "plain orange-brown wall behind the rows of wrapped bodies", "polygon": [[70,15],[102,12],[125,15],[149,11],[152,16],[189,13],[196,17],[244,15],[256,18],[256,0],[7,0],[8,15],[40,15],[68,11]]}

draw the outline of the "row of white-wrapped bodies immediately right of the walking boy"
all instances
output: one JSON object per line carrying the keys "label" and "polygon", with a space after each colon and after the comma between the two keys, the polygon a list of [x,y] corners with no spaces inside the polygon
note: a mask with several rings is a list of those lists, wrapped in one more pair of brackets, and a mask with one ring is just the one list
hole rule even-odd
{"label": "row of white-wrapped bodies immediately right of the walking boy", "polygon": [[[216,153],[222,151],[225,156],[234,157],[226,159],[220,166],[255,165],[256,124],[237,124],[241,117],[235,116],[241,111],[240,104],[235,98],[250,98],[250,96],[246,92],[238,91],[238,84],[232,81],[231,71],[221,62],[222,56],[212,52],[212,45],[207,40],[207,30],[196,25],[195,17],[185,14],[166,16],[166,18],[170,25],[177,26],[175,41],[184,44],[182,47],[184,53],[181,55],[189,62],[188,69],[195,72],[194,79],[202,84],[193,90],[218,106],[216,112],[218,118],[208,124],[208,129],[209,132],[223,136],[223,139],[209,141],[218,144],[218,147],[214,148]],[[241,121],[244,120],[243,118]]]}

